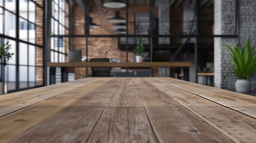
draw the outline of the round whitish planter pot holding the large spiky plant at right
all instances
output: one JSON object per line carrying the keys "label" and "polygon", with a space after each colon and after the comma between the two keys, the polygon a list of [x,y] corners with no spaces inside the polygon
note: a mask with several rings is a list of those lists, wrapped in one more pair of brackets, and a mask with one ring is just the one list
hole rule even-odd
{"label": "round whitish planter pot holding the large spiky plant at right", "polygon": [[236,92],[239,92],[239,93],[251,92],[251,82],[248,79],[237,79],[235,86],[236,86]]}

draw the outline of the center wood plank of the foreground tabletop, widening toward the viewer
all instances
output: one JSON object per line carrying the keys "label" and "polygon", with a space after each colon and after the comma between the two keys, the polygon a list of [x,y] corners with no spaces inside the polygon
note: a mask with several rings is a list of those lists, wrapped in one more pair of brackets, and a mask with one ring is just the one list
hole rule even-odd
{"label": "center wood plank of the foreground tabletop, widening toward the viewer", "polygon": [[132,79],[119,86],[88,142],[158,142]]}

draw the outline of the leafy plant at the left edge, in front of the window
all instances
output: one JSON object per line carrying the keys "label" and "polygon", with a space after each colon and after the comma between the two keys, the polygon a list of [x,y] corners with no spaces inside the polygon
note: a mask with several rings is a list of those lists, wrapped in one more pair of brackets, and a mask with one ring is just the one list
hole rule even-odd
{"label": "leafy plant at the left edge, in front of the window", "polygon": [[5,83],[4,81],[4,67],[7,64],[7,61],[11,59],[11,57],[14,55],[14,53],[10,53],[9,49],[11,49],[11,45],[9,44],[9,42],[7,42],[6,44],[1,43],[0,45],[0,62],[1,62],[1,74],[0,74],[0,95],[2,94],[6,94],[7,93],[7,89],[5,87],[7,87],[7,83]]}

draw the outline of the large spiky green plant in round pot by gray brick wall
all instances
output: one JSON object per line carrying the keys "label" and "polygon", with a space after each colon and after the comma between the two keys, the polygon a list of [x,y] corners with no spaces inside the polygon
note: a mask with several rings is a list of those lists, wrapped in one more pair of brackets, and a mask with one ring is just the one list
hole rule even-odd
{"label": "large spiky green plant in round pot by gray brick wall", "polygon": [[235,83],[236,92],[248,93],[251,91],[249,76],[256,69],[256,48],[251,48],[250,36],[243,49],[239,45],[236,45],[235,48],[232,48],[230,45],[226,46],[231,55],[233,71],[238,76]]}

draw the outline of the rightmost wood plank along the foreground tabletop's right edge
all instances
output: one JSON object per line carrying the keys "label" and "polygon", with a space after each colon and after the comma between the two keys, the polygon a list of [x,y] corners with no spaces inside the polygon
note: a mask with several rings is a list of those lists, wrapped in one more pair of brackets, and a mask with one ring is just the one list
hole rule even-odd
{"label": "rightmost wood plank along the foreground tabletop's right edge", "polygon": [[[163,81],[170,82],[169,80]],[[169,84],[256,119],[256,97],[189,82]]]}

